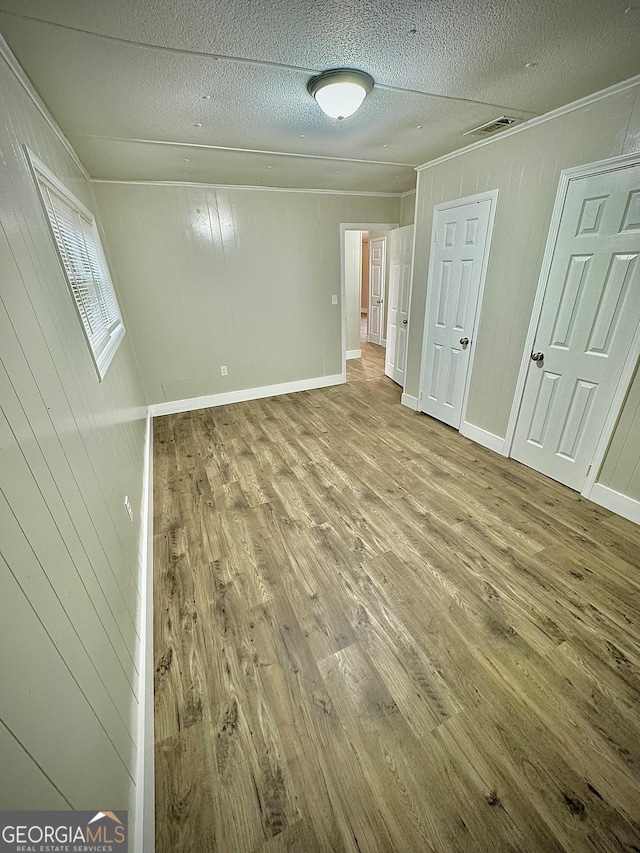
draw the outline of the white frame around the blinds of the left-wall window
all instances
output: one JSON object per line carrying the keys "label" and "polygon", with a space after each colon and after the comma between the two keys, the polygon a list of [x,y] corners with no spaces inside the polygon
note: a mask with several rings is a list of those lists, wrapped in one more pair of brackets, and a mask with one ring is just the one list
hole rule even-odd
{"label": "white frame around the blinds of the left-wall window", "polygon": [[[76,198],[71,190],[63,184],[57,175],[54,175],[51,169],[49,169],[42,160],[40,160],[26,146],[25,153],[33,174],[34,183],[42,205],[44,217],[47,221],[47,227],[51,234],[65,281],[67,282],[71,301],[73,302],[76,315],[80,321],[80,326],[87,343],[89,354],[91,355],[91,360],[93,361],[96,373],[98,374],[98,381],[102,382],[125,335],[125,327],[120,305],[118,303],[118,295],[113,284],[113,279],[111,278],[109,265],[107,264],[105,252],[102,247],[102,241],[100,239],[100,233],[98,231],[95,216],[80,201],[80,199]],[[48,187],[47,184],[49,185]],[[79,253],[78,257],[81,256],[83,266],[90,272],[90,278],[88,279],[89,283],[85,282],[85,287],[87,287],[88,283],[88,298],[95,301],[95,304],[100,308],[100,312],[106,315],[107,318],[110,318],[109,323],[103,322],[102,325],[99,325],[99,337],[96,335],[92,336],[90,333],[91,321],[86,310],[86,304],[82,302],[79,296],[79,291],[81,290],[81,287],[79,286],[79,277],[74,282],[69,275],[65,256],[63,254],[63,248],[70,259],[69,251],[64,244],[61,248],[58,235],[56,234],[56,228],[59,231],[60,225],[59,223],[56,223],[56,226],[54,227],[54,223],[51,221],[51,217],[49,215],[47,200],[45,199],[45,190],[50,192],[51,189],[61,197],[62,201],[68,205],[73,213],[80,219],[80,231],[78,233],[81,235],[82,240],[78,241],[78,244],[74,246],[74,252]],[[49,202],[49,204],[51,204],[51,202]],[[98,274],[99,280],[96,280],[96,276],[93,274],[94,270]]]}

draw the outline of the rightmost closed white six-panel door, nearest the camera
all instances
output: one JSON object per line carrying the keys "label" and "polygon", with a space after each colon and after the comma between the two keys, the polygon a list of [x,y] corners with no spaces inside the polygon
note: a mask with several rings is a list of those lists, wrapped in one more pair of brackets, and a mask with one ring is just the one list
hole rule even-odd
{"label": "rightmost closed white six-panel door, nearest the camera", "polygon": [[640,166],[569,182],[511,455],[581,489],[640,322]]}

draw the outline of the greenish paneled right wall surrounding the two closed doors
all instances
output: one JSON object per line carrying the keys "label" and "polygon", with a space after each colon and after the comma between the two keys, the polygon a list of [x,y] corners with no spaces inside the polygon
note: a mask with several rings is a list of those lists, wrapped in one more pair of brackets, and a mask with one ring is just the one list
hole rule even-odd
{"label": "greenish paneled right wall surrounding the two closed doors", "polygon": [[[504,437],[560,173],[637,150],[640,85],[419,171],[407,394],[419,391],[434,205],[499,189],[466,420]],[[627,405],[637,406],[638,396],[630,395]],[[614,442],[616,452],[623,444],[629,461],[628,442]],[[606,470],[613,477],[613,469]]]}

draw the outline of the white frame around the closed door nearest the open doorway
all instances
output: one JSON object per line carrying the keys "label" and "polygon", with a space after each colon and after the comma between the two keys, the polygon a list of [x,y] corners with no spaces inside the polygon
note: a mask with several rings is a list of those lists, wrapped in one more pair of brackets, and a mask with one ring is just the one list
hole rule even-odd
{"label": "white frame around the closed door nearest the open doorway", "polygon": [[[436,242],[436,230],[438,224],[438,215],[444,210],[452,210],[455,207],[466,207],[468,204],[474,204],[480,201],[490,201],[491,207],[489,208],[489,220],[487,222],[487,236],[485,239],[485,252],[482,258],[482,268],[480,270],[480,282],[478,284],[478,302],[476,304],[476,311],[473,317],[473,329],[471,332],[471,342],[475,344],[477,340],[477,331],[478,331],[478,323],[480,321],[480,312],[482,311],[482,301],[484,298],[484,286],[487,280],[487,268],[489,266],[489,253],[491,250],[491,243],[493,240],[493,226],[495,224],[496,219],[496,207],[498,205],[498,190],[487,190],[482,193],[475,193],[474,195],[464,196],[463,198],[455,198],[451,201],[443,201],[440,204],[434,205],[433,208],[433,223],[431,225],[431,251],[429,253],[429,272],[427,274],[427,300],[425,305],[425,324],[424,324],[424,333],[422,337],[422,353],[420,356],[420,383],[418,385],[418,411],[422,411],[420,406],[422,405],[422,392],[423,392],[423,384],[426,376],[425,370],[425,361],[427,357],[427,322],[426,318],[428,316],[429,311],[433,307],[433,277],[434,277],[434,255],[433,247]],[[414,234],[413,238],[413,248],[415,252],[415,244],[416,244],[416,235]],[[413,275],[412,275],[412,283],[413,283]],[[466,420],[465,415],[467,413],[467,402],[469,400],[469,386],[471,374],[473,373],[473,362],[475,359],[477,347],[473,346],[471,348],[471,352],[469,354],[469,364],[467,366],[467,375],[464,380],[464,392],[462,395],[462,409],[460,412],[460,429],[459,432],[461,435],[466,435],[465,426]],[[475,438],[474,435],[470,435],[470,438]]]}

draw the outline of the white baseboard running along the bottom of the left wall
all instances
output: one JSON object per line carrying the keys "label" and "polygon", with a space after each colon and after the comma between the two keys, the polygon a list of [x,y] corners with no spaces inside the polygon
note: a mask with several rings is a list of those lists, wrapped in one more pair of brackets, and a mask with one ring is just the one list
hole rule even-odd
{"label": "white baseboard running along the bottom of the left wall", "polygon": [[153,737],[153,421],[147,414],[140,511],[140,636],[134,850],[155,850]]}

